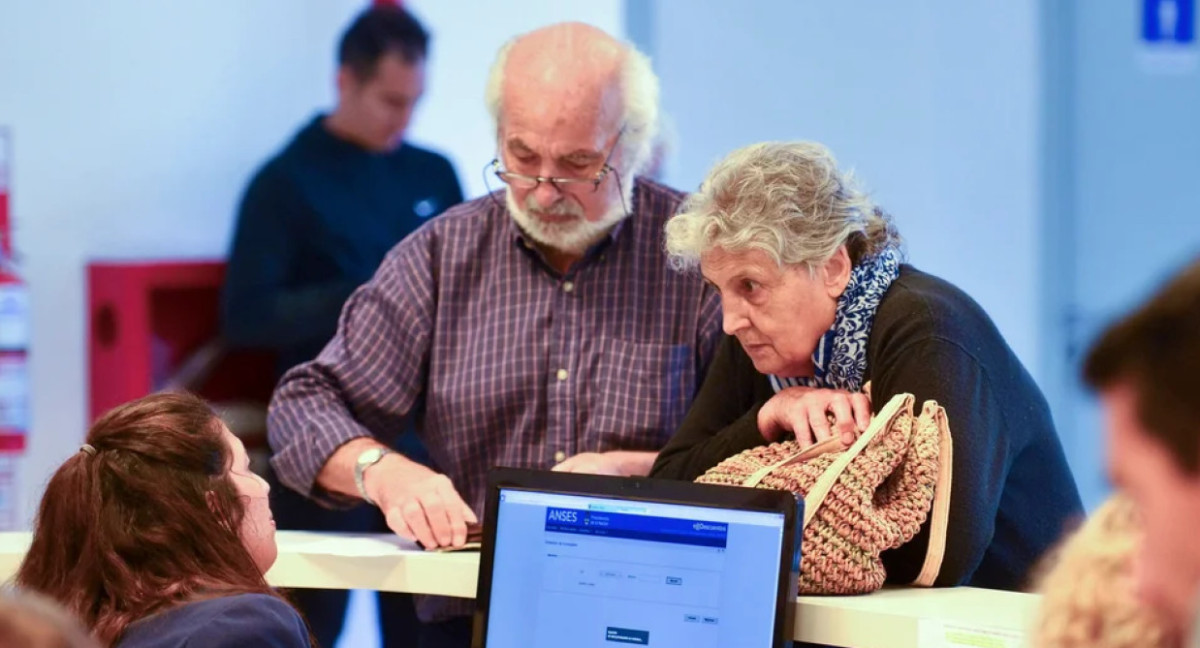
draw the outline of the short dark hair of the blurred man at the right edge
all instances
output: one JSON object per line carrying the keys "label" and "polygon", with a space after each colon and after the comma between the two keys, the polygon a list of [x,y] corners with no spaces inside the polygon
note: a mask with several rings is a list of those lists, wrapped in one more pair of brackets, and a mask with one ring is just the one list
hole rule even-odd
{"label": "short dark hair of the blurred man at the right edge", "polygon": [[1146,432],[1184,474],[1200,473],[1200,257],[1100,336],[1084,379],[1133,388]]}

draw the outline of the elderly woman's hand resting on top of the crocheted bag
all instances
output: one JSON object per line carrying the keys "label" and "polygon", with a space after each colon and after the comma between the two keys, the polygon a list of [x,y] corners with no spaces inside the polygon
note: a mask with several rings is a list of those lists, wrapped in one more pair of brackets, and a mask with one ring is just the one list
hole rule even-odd
{"label": "elderly woman's hand resting on top of the crocheted bag", "polygon": [[772,396],[758,410],[758,432],[770,443],[791,432],[802,448],[841,437],[854,443],[871,422],[869,391],[852,394],[836,389],[787,388]]}

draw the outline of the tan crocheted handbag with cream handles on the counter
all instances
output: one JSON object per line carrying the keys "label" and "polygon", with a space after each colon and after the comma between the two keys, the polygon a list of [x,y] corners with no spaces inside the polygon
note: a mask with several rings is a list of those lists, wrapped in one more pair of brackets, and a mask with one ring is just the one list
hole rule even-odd
{"label": "tan crocheted handbag with cream handles on the counter", "polygon": [[800,594],[880,589],[880,554],[912,540],[932,511],[929,551],[913,581],[930,587],[946,550],[950,428],[934,401],[914,420],[913,400],[892,398],[848,449],[838,438],[804,450],[794,440],[773,443],[734,455],[696,481],[804,497]]}

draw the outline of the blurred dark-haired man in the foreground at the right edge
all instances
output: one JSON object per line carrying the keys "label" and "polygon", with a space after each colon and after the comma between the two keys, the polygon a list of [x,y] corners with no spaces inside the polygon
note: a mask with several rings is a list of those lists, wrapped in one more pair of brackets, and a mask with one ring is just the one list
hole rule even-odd
{"label": "blurred dark-haired man in the foreground at the right edge", "polygon": [[1200,258],[1110,328],[1084,373],[1104,403],[1112,479],[1145,524],[1139,593],[1200,646]]}

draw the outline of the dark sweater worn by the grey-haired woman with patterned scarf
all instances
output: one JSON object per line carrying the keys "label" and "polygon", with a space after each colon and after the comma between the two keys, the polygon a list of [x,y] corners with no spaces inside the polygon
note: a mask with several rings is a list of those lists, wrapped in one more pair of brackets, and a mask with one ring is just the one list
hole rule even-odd
{"label": "dark sweater worn by the grey-haired woman with patterned scarf", "polygon": [[[946,408],[954,439],[949,538],[938,586],[1020,589],[1030,568],[1082,516],[1045,398],[988,314],[954,286],[912,266],[875,314],[866,348],[872,408],[910,392]],[[763,445],[757,415],[774,395],[737,338],[726,337],[653,476],[691,480]],[[888,581],[920,570],[929,524],[883,556]]]}

